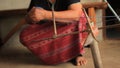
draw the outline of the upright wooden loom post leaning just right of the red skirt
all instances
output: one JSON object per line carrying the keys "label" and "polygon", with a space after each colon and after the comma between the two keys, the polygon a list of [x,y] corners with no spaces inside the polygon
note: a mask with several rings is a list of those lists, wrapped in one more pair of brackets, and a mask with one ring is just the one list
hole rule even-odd
{"label": "upright wooden loom post leaning just right of the red skirt", "polygon": [[[94,22],[94,24],[96,24],[95,9],[88,8],[88,14],[89,14],[90,20]],[[90,45],[90,48],[91,48],[95,68],[103,68],[101,55],[98,47],[98,42],[96,41],[96,38],[94,39],[93,43]]]}

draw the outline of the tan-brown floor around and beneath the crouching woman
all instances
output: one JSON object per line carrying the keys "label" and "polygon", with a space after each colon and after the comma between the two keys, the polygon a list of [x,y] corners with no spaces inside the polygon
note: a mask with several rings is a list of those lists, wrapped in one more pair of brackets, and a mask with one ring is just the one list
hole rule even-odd
{"label": "tan-brown floor around and beneath the crouching woman", "polygon": [[[0,68],[94,68],[90,48],[84,56],[88,63],[85,66],[74,66],[70,62],[49,66],[42,63],[19,42],[17,32],[0,49]],[[103,68],[120,68],[120,40],[104,40],[99,43]]]}

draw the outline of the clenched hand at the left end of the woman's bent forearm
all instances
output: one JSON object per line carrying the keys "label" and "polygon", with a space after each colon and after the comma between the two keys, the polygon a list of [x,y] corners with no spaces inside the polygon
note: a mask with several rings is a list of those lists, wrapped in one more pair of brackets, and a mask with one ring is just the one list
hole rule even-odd
{"label": "clenched hand at the left end of the woman's bent forearm", "polygon": [[40,20],[45,19],[46,17],[46,10],[39,7],[33,7],[27,14],[26,20],[29,23],[37,23]]}

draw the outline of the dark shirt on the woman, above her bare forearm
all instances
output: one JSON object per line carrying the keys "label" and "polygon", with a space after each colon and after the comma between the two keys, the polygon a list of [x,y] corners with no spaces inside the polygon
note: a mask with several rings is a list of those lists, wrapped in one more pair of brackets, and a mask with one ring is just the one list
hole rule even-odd
{"label": "dark shirt on the woman, above her bare forearm", "polygon": [[[67,10],[68,6],[80,2],[80,0],[56,0],[55,2],[55,11],[62,11]],[[49,0],[31,0],[30,7],[28,8],[28,11],[33,7],[41,7],[46,10],[51,10],[51,3]]]}

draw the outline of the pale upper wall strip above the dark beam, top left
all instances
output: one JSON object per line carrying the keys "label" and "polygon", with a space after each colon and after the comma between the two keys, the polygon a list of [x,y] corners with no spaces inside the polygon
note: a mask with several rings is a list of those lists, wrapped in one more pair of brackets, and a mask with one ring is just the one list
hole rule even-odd
{"label": "pale upper wall strip above the dark beam, top left", "polygon": [[0,11],[11,9],[24,9],[29,5],[30,0],[0,0]]}

